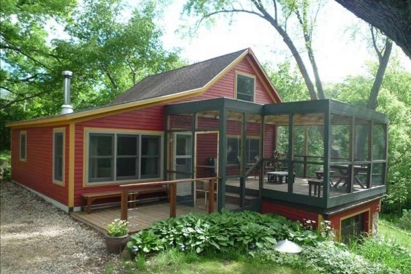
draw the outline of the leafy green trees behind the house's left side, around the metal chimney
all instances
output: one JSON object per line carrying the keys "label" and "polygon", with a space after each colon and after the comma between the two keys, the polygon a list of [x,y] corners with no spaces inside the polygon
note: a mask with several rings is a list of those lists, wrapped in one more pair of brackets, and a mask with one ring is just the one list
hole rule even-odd
{"label": "leafy green trees behind the house's left side, around the metal chimney", "polygon": [[[134,73],[138,81],[182,65],[177,50],[162,47],[154,2],[136,6],[123,0],[2,1],[1,149],[10,149],[5,123],[60,112],[62,71],[74,73],[71,104],[79,110],[110,102],[133,85]],[[64,29],[62,37],[55,37],[55,27]]]}

